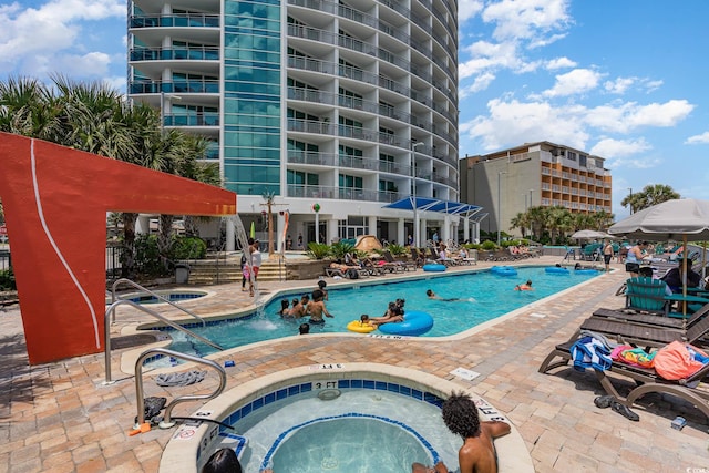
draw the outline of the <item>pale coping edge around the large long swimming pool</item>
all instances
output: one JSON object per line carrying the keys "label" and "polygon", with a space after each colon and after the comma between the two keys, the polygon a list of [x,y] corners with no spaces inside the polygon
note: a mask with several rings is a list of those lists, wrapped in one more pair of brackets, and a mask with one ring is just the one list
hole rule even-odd
{"label": "pale coping edge around the large long swimming pool", "polygon": [[[548,265],[538,265],[538,264],[526,264],[526,265],[517,265],[516,267],[545,267]],[[455,274],[470,274],[470,273],[480,273],[480,271],[484,271],[484,270],[489,270],[490,268],[470,268],[470,269],[465,269],[465,270],[461,270],[461,271],[456,271]],[[600,274],[602,275],[602,274]],[[596,276],[596,277],[600,277]],[[444,274],[444,273],[439,273],[439,274],[414,274],[414,275],[400,275],[397,276],[395,278],[390,278],[387,279],[386,281],[391,281],[391,282],[398,282],[398,281],[402,281],[402,280],[407,280],[407,279],[429,279],[429,278],[436,278],[436,277],[451,277],[451,274]],[[373,337],[373,338],[379,338],[379,339],[389,339],[389,340],[417,340],[417,341],[455,341],[455,340],[463,340],[466,339],[473,335],[476,335],[483,330],[486,330],[491,327],[494,327],[499,323],[502,323],[508,319],[515,318],[520,315],[526,313],[528,312],[531,309],[534,309],[535,306],[537,305],[542,305],[545,302],[548,302],[551,300],[554,300],[556,298],[559,297],[565,297],[567,294],[569,294],[571,291],[577,290],[579,288],[583,288],[586,285],[593,284],[595,280],[595,278],[590,278],[588,280],[582,281],[577,285],[574,285],[572,287],[568,287],[564,290],[561,290],[558,292],[552,294],[549,296],[546,296],[542,299],[535,300],[531,304],[527,304],[525,306],[522,306],[517,309],[514,309],[510,312],[503,313],[502,316],[499,316],[492,320],[487,320],[484,321],[482,323],[479,323],[475,327],[472,327],[467,330],[464,330],[462,332],[459,333],[453,333],[450,336],[443,336],[443,337],[409,337],[409,336],[388,336],[388,335],[380,335],[380,333],[353,333],[353,332],[328,332],[328,333],[309,333],[308,337],[310,338],[316,338],[316,337]],[[367,286],[371,286],[371,285],[377,285],[377,284],[381,284],[382,280],[367,280],[367,281],[361,281],[361,280],[357,280],[357,281],[350,281],[349,279],[346,282],[341,282],[340,285],[338,285],[338,287],[352,287],[352,286],[358,286],[358,285],[362,285],[363,282],[367,284]],[[274,292],[269,292],[267,295],[264,295],[265,298],[263,301],[259,301],[258,305],[267,305],[269,302],[271,302],[274,299],[276,298],[282,298],[285,295],[290,295],[290,294],[301,294],[302,289],[305,288],[310,288],[311,286],[299,286],[299,287],[295,287],[295,288],[288,288],[288,289],[280,289]],[[204,299],[204,298],[201,298]],[[247,315],[249,315],[250,312],[254,311],[254,309],[258,306],[258,305],[250,305],[247,307],[244,307],[242,309],[237,309],[237,310],[232,310],[229,312],[215,312],[213,315],[208,315],[208,316],[204,316],[203,319],[205,319],[206,321],[219,321],[219,320],[228,320],[228,319],[235,319],[238,318],[238,316],[245,317]],[[179,317],[179,318],[175,318],[175,319],[171,319],[177,323],[179,322],[194,322],[194,319],[192,318],[185,318],[185,317]],[[122,336],[127,336],[127,335],[136,335],[136,333],[144,333],[146,329],[153,329],[155,327],[164,327],[163,323],[161,323],[160,321],[156,322],[142,322],[138,325],[129,325],[123,327],[123,329],[121,330],[121,335]],[[264,341],[258,341],[258,342],[254,342],[254,343],[248,343],[248,345],[244,345],[240,347],[234,347],[234,348],[229,348],[223,351],[218,351],[216,353],[210,353],[207,354],[203,358],[208,359],[208,360],[218,360],[222,358],[228,358],[232,357],[240,351],[244,350],[250,350],[250,349],[257,349],[260,347],[266,347],[273,343],[278,343],[280,341],[287,341],[287,340],[291,340],[291,339],[296,339],[300,336],[298,335],[294,335],[294,336],[288,336],[288,337],[280,337],[277,339],[273,339],[273,340],[264,340]],[[145,345],[142,346],[137,349],[131,349],[131,350],[126,350],[125,352],[123,352],[121,354],[121,371],[125,374],[129,376],[133,376],[135,374],[135,362],[136,360],[141,357],[141,354],[150,349],[150,348],[169,348],[169,345],[172,343],[172,340],[166,340],[166,341],[160,341],[156,343],[151,343],[151,345]],[[182,363],[178,366],[174,366],[174,367],[160,367],[160,368],[144,368],[143,373],[152,373],[152,374],[158,374],[158,373],[169,373],[169,372],[176,372],[176,371],[184,371],[185,369],[191,369],[191,368],[195,368],[197,367],[196,363],[193,362],[186,362],[186,363]]]}

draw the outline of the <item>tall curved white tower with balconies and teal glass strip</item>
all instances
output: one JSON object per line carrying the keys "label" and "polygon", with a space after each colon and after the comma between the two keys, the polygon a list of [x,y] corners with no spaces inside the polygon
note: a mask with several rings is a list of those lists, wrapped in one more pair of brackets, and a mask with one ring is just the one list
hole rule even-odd
{"label": "tall curved white tower with balconies and teal glass strip", "polygon": [[[413,213],[386,204],[459,199],[455,0],[133,0],[129,14],[129,95],[212,142],[243,219],[270,195],[294,241],[403,243]],[[423,218],[421,240],[458,217]]]}

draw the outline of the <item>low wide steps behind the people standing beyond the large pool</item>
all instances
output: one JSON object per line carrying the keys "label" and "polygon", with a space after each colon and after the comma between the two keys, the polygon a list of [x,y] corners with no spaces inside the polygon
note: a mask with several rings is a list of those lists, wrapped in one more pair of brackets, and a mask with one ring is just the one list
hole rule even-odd
{"label": "low wide steps behind the people standing beyond the large pool", "polygon": [[[189,280],[191,285],[207,286],[215,284],[237,282],[242,280],[242,265],[239,264],[240,254],[238,256],[228,256],[226,261],[220,258],[201,259],[189,263]],[[264,255],[261,266],[258,270],[258,280],[260,281],[279,281],[286,279],[286,265],[279,263],[278,257],[269,259]]]}

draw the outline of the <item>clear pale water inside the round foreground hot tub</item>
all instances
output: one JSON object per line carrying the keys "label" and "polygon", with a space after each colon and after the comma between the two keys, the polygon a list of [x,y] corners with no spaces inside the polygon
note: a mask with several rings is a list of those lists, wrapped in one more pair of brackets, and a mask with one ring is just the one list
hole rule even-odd
{"label": "clear pale water inside the round foreground hot tub", "polygon": [[407,472],[412,462],[455,464],[461,441],[439,407],[389,391],[340,392],[327,401],[316,392],[289,397],[233,423],[248,439],[244,471]]}

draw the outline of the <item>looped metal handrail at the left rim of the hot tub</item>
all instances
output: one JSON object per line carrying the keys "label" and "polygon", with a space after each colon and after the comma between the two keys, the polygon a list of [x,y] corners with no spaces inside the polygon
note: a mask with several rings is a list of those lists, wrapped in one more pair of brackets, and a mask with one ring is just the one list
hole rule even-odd
{"label": "looped metal handrail at the left rim of the hot tub", "polygon": [[166,348],[151,348],[144,351],[135,361],[135,397],[137,398],[137,423],[135,424],[135,429],[138,429],[145,422],[145,400],[143,399],[143,361],[145,361],[145,359],[150,354],[155,353],[166,354],[168,357],[181,358],[186,361],[206,364],[214,368],[219,373],[219,387],[212,394],[189,394],[181,395],[173,399],[172,402],[165,408],[165,415],[163,418],[163,421],[160,423],[161,429],[169,429],[175,425],[175,422],[173,422],[172,420],[172,412],[175,405],[179,404],[181,402],[198,400],[207,401],[209,399],[214,399],[217,395],[222,394],[224,388],[226,388],[226,371],[219,363],[212,360],[205,360],[204,358],[193,357],[192,354],[179,353]]}

